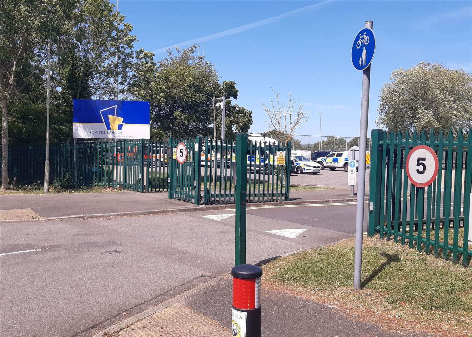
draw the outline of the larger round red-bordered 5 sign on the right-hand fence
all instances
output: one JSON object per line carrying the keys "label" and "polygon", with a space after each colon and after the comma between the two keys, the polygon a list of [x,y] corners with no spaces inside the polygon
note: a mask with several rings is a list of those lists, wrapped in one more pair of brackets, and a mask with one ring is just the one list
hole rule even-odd
{"label": "larger round red-bordered 5 sign on the right-hand fence", "polygon": [[438,156],[426,145],[415,146],[406,158],[406,175],[416,187],[429,186],[438,175]]}

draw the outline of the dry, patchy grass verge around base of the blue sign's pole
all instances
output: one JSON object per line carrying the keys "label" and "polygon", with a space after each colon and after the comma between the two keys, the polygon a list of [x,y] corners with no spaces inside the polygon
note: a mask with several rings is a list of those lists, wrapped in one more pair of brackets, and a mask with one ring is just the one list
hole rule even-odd
{"label": "dry, patchy grass verge around base of the blue sign's pole", "polygon": [[363,289],[352,288],[354,239],[280,258],[264,286],[289,291],[400,333],[472,336],[472,269],[364,237]]}

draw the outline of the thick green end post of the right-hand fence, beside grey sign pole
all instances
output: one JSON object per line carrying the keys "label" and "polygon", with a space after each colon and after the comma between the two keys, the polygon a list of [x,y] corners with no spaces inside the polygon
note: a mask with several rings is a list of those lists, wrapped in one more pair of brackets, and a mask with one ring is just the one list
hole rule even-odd
{"label": "thick green end post of the right-hand fence, beside grey sign pole", "polygon": [[[382,181],[382,165],[385,165],[385,159],[380,155],[380,142],[384,141],[383,130],[372,130],[372,148],[371,148],[371,175],[369,182],[369,230],[368,235],[375,234],[375,226],[380,225],[380,203],[383,202],[383,196],[380,195]],[[385,144],[383,145],[385,146]],[[370,205],[373,205],[371,208]]]}

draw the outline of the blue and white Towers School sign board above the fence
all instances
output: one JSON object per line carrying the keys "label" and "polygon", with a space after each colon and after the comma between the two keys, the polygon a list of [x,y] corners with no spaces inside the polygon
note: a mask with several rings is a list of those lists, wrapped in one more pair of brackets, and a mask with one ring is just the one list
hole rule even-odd
{"label": "blue and white Towers School sign board above the fence", "polygon": [[74,99],[74,138],[149,139],[150,104]]}

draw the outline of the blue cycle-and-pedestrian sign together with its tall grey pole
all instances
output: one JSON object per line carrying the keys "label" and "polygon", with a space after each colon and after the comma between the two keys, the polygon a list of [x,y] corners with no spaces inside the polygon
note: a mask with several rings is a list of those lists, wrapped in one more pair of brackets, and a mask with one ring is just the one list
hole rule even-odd
{"label": "blue cycle-and-pedestrian sign together with its tall grey pole", "polygon": [[354,289],[361,289],[362,232],[364,224],[365,155],[367,148],[367,123],[369,117],[369,90],[371,62],[375,53],[375,36],[372,21],[365,22],[365,28],[355,37],[351,58],[354,68],[362,70],[361,130],[359,134],[359,186],[357,188],[357,209],[355,222]]}

